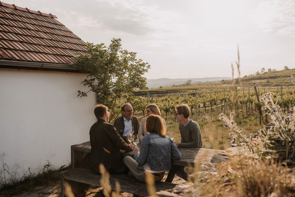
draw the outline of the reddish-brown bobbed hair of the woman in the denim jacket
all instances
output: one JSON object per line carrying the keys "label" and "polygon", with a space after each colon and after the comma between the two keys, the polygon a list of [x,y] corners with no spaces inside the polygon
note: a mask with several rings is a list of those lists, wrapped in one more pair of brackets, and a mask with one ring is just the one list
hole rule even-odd
{"label": "reddish-brown bobbed hair of the woman in the denim jacket", "polygon": [[148,133],[157,133],[161,137],[166,137],[165,127],[162,118],[158,115],[151,114],[145,121],[145,130]]}

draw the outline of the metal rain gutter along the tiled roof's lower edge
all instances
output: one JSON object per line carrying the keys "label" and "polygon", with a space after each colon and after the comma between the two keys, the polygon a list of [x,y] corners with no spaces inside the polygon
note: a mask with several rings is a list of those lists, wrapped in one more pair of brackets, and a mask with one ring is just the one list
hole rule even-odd
{"label": "metal rain gutter along the tiled roof's lower edge", "polygon": [[69,64],[48,64],[48,63],[39,63],[39,62],[20,62],[20,61],[0,60],[0,65],[2,65],[2,66],[31,67],[31,68],[51,68],[51,69],[75,70]]}

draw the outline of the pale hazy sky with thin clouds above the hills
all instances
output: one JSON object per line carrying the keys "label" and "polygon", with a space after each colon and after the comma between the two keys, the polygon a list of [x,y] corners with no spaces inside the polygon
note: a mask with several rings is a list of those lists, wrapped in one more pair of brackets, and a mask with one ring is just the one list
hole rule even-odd
{"label": "pale hazy sky with thin clouds above the hills", "polygon": [[148,79],[231,77],[237,45],[242,76],[295,68],[295,0],[3,1],[52,13],[85,42],[121,38]]}

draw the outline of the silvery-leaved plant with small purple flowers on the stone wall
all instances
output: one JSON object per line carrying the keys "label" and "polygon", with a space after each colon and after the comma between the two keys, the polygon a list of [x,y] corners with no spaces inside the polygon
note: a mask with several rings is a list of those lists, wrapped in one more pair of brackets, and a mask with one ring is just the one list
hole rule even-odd
{"label": "silvery-leaved plant with small purple flowers on the stone wall", "polygon": [[266,129],[264,126],[257,133],[257,139],[253,141],[253,135],[250,138],[244,135],[239,129],[233,117],[230,118],[224,114],[219,115],[219,119],[224,121],[224,127],[230,129],[229,135],[232,136],[232,144],[237,146],[248,146],[254,156],[266,159],[274,158],[277,161],[286,162],[288,165],[295,164],[295,107],[289,109],[289,114],[280,110],[278,101],[274,103],[272,96],[274,93],[265,93],[260,99],[265,106],[261,109],[266,111],[275,126]]}

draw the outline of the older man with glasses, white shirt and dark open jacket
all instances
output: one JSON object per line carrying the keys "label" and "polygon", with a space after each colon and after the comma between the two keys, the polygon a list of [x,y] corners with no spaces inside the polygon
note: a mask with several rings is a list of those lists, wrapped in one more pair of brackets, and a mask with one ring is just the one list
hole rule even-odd
{"label": "older man with glasses, white shirt and dark open jacket", "polygon": [[134,128],[133,135],[137,135],[139,129],[139,121],[137,117],[132,116],[133,108],[130,103],[121,106],[122,116],[116,118],[114,126],[123,140],[127,141],[128,133]]}

